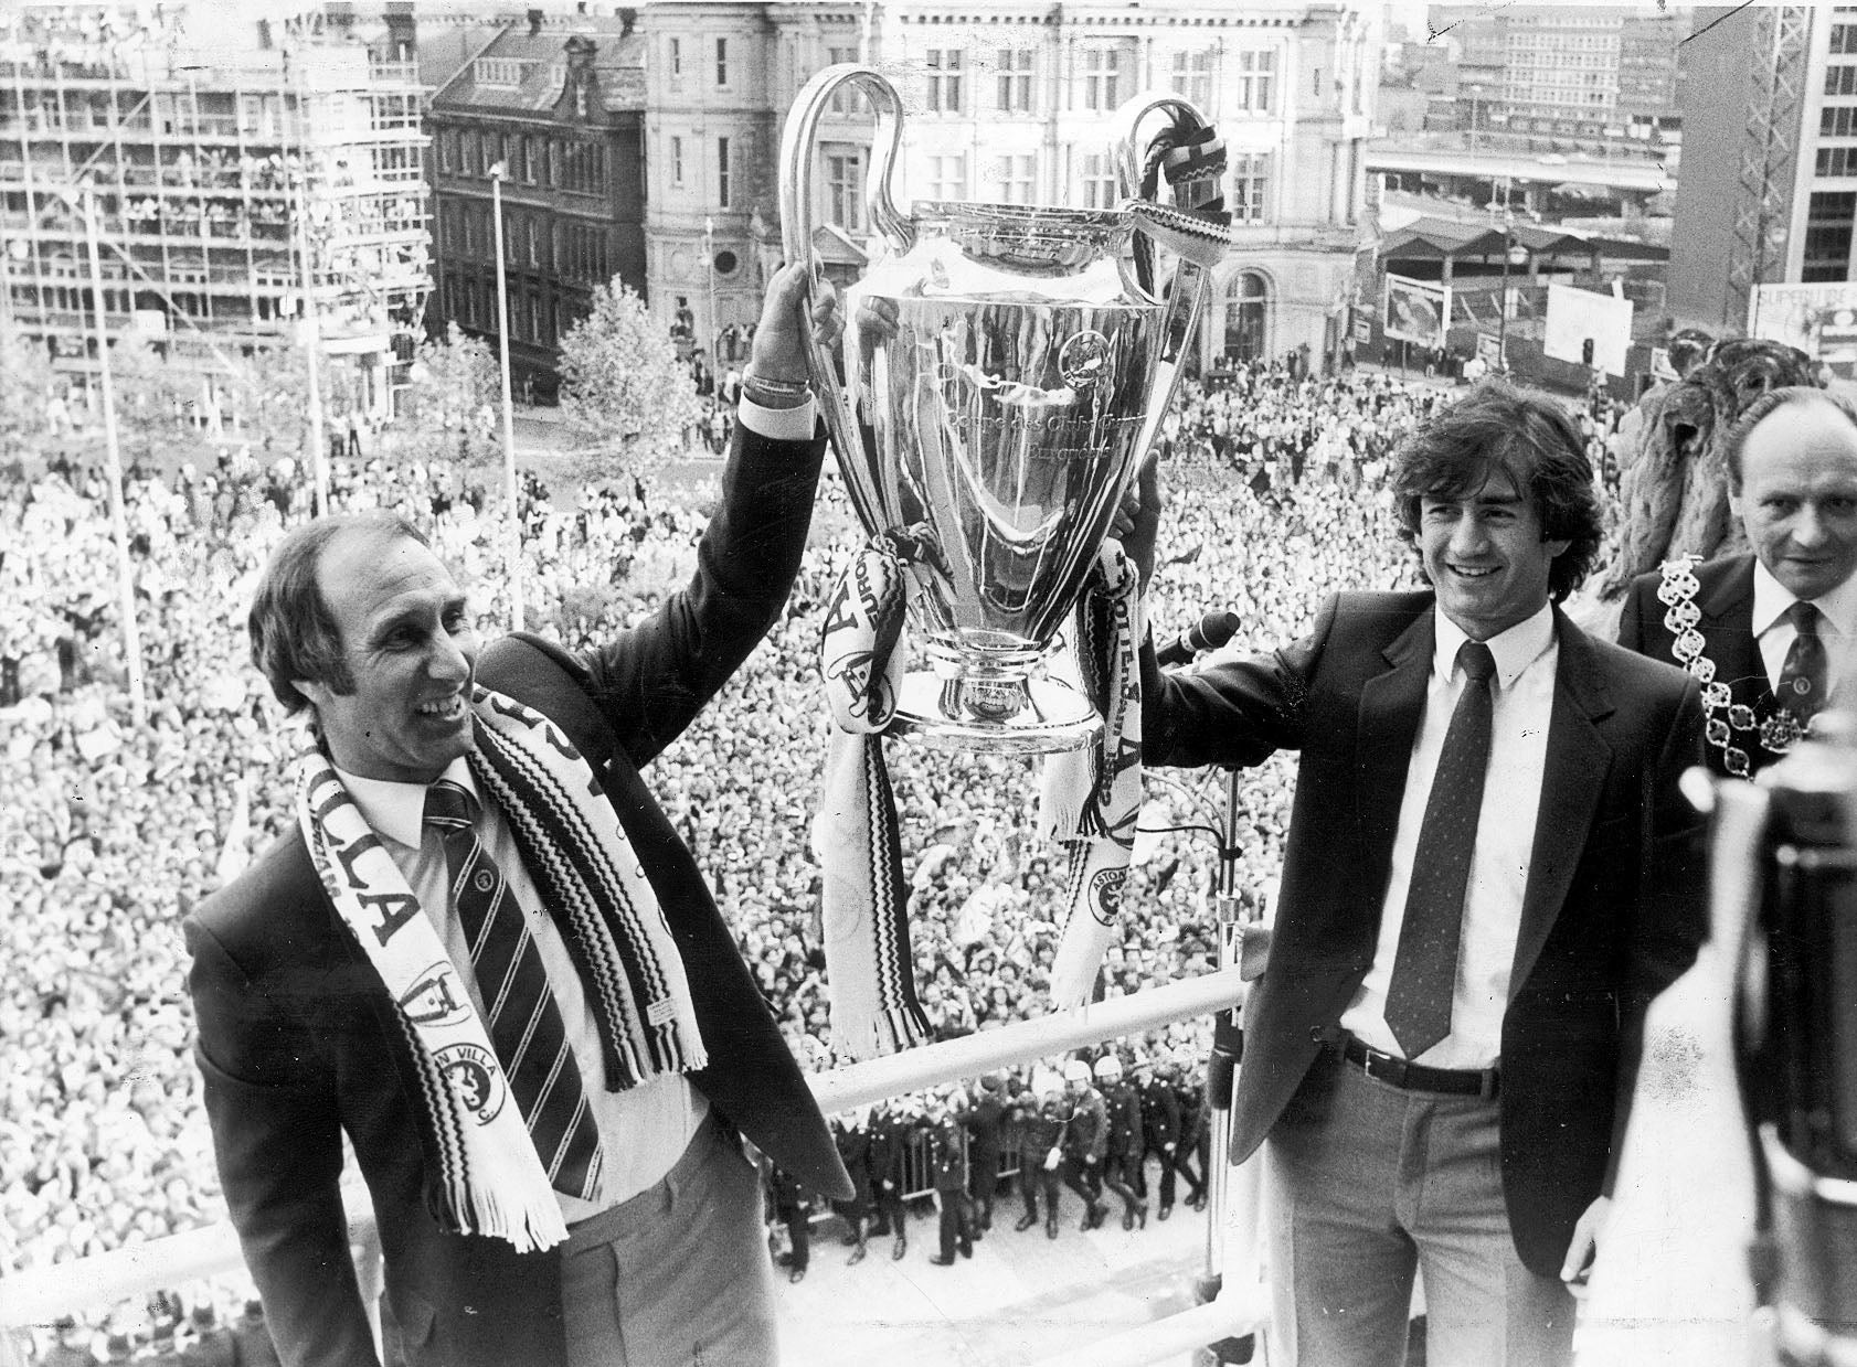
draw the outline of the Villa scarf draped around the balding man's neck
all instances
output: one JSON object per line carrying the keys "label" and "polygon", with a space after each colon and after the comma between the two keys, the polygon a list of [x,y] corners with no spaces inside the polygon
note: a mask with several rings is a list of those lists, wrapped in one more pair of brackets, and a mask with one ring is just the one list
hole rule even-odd
{"label": "Villa scarf draped around the balding man's neck", "polygon": [[[683,961],[592,768],[540,712],[474,686],[479,792],[516,850],[587,985],[609,1085],[706,1067]],[[381,974],[420,1078],[418,1109],[438,1154],[444,1228],[509,1239],[518,1252],[566,1239],[561,1202],[514,1105],[472,1091],[509,1083],[433,922],[368,827],[314,722],[297,757],[297,824],[329,900]],[[470,1059],[472,1068],[451,1067]]]}

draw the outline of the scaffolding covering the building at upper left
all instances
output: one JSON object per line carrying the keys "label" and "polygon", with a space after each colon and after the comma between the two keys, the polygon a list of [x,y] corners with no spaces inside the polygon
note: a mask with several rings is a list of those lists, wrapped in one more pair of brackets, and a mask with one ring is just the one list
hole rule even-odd
{"label": "scaffolding covering the building at upper left", "polygon": [[202,377],[314,339],[340,410],[384,414],[423,321],[429,189],[416,63],[290,24],[247,50],[169,11],[28,4],[0,30],[0,297],[74,377],[97,369],[95,202],[111,345]]}

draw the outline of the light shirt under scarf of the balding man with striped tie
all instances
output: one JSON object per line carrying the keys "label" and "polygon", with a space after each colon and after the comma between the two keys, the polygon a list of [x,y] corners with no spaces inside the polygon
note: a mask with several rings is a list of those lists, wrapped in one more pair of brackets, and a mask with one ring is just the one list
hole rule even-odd
{"label": "light shirt under scarf of the balding man with striped tie", "polygon": [[[477,1016],[485,1020],[485,1029],[488,1029],[490,1022],[485,1018],[477,976],[470,966],[464,926],[451,905],[444,838],[436,829],[425,825],[425,785],[362,779],[340,768],[336,773],[342,775],[342,783],[355,798],[368,825],[381,837],[386,853],[407,875],[407,887],[412,888],[412,896],[420,900],[420,911],[444,940],[446,953],[457,965],[459,977],[470,989],[472,1005],[477,1007]],[[451,760],[444,777],[474,794],[477,792],[470,764],[462,759]],[[509,894],[529,918],[529,933],[542,955],[542,968],[553,989],[555,1005],[561,1009],[561,1024],[566,1028],[574,1063],[579,1065],[594,1124],[600,1128],[600,1187],[594,1191],[594,1198],[579,1200],[555,1193],[561,1200],[561,1215],[572,1224],[598,1215],[628,1196],[637,1196],[663,1178],[689,1148],[696,1126],[709,1115],[709,1102],[682,1074],[656,1078],[618,1092],[605,1089],[600,1026],[587,1002],[579,974],[574,970],[574,961],[568,957],[566,942],[555,922],[542,911],[542,896],[537,892],[529,870],[522,864],[522,853],[509,833],[509,824],[496,803],[483,801],[481,794],[477,838],[503,870]]]}

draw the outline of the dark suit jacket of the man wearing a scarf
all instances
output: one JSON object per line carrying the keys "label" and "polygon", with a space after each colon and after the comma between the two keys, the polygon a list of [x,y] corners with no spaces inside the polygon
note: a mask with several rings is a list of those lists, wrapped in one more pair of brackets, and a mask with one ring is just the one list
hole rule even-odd
{"label": "dark suit jacket of the man wearing a scarf", "polygon": [[[650,762],[735,671],[799,569],[823,441],[735,428],[722,506],[691,584],[613,645],[574,660],[492,642],[477,679],[555,716],[583,746],[646,864],[689,974],[711,1109],[806,1185],[849,1195],[812,1092],[695,859],[644,786]],[[585,703],[592,705],[589,710]],[[602,749],[609,759],[600,762]],[[373,1363],[338,1195],[342,1133],[379,1220],[386,1289],[412,1363],[563,1361],[559,1252],[446,1233],[431,1215],[436,1139],[379,974],[342,926],[292,829],[186,922],[197,1059],[232,1222],[286,1363]]]}

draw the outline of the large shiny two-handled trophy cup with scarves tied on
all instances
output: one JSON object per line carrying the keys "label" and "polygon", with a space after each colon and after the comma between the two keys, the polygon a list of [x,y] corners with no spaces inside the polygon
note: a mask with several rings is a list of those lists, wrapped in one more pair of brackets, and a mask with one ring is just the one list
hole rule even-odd
{"label": "large shiny two-handled trophy cup with scarves tied on", "polygon": [[[841,65],[800,91],[780,148],[786,256],[808,263],[813,289],[817,128],[847,87],[877,111],[867,202],[880,243],[845,291],[839,345],[812,341],[808,362],[869,542],[826,614],[821,668],[839,735],[813,835],[834,1037],[865,1055],[925,1033],[882,735],[1051,757],[1044,822],[1073,842],[1053,1000],[1088,994],[1140,805],[1140,605],[1107,536],[1231,236],[1224,147],[1174,96],[1116,113],[1120,208],[903,213],[890,185],[897,91]],[[904,621],[925,670],[903,670]],[[1049,673],[1066,625],[1081,688]]]}

